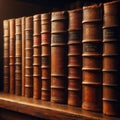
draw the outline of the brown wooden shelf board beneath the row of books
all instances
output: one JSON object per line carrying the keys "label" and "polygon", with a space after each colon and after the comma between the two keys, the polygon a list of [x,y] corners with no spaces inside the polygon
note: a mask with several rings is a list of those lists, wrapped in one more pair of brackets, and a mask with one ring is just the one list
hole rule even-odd
{"label": "brown wooden shelf board beneath the row of books", "polygon": [[120,120],[69,105],[0,93],[0,108],[49,120]]}

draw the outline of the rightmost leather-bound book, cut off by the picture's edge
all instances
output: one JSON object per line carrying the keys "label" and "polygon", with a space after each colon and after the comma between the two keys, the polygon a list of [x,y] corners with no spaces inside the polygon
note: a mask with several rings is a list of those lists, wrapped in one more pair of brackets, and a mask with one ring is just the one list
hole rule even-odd
{"label": "rightmost leather-bound book, cut off by the picture's edge", "polygon": [[104,3],[103,114],[120,116],[120,1]]}

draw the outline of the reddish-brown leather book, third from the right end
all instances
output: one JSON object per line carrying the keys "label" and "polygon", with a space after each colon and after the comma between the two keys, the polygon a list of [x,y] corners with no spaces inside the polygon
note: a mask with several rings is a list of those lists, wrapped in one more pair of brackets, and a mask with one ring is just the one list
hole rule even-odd
{"label": "reddish-brown leather book, third from the right end", "polygon": [[68,11],[68,104],[81,106],[82,9]]}

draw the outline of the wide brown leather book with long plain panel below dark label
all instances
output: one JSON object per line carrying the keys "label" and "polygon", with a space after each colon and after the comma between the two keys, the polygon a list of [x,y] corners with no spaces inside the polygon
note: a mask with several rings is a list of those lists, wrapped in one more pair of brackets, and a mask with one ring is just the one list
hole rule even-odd
{"label": "wide brown leather book with long plain panel below dark label", "polygon": [[51,15],[51,102],[67,102],[67,12]]}

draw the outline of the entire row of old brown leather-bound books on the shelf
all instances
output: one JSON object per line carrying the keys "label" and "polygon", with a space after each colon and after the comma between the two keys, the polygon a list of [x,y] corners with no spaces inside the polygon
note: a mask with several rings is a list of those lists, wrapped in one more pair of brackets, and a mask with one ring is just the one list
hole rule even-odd
{"label": "entire row of old brown leather-bound books on the shelf", "polygon": [[4,92],[119,116],[119,8],[4,20]]}

